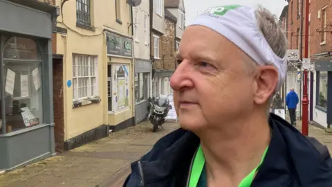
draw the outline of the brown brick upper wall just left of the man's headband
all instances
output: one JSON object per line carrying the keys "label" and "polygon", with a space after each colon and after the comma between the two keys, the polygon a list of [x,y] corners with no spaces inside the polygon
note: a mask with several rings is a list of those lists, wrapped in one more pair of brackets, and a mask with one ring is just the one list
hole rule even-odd
{"label": "brown brick upper wall just left of the man's headband", "polygon": [[[160,60],[155,60],[154,69],[174,70],[175,69],[175,28],[176,24],[165,18],[165,33],[160,36]],[[154,54],[154,39],[151,38],[152,54]]]}

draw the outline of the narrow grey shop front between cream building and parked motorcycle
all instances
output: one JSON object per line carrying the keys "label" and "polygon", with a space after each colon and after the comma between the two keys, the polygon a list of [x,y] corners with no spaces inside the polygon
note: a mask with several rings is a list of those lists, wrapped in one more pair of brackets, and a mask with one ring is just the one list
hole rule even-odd
{"label": "narrow grey shop front between cream building and parked motorcycle", "polygon": [[147,105],[149,98],[149,84],[151,62],[149,60],[136,59],[135,61],[135,120],[140,123],[147,117]]}

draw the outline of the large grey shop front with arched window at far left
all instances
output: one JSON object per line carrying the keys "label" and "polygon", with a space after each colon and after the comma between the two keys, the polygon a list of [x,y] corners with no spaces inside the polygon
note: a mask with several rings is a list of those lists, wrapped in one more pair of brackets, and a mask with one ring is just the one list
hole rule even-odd
{"label": "large grey shop front with arched window at far left", "polygon": [[51,35],[57,8],[16,2],[0,0],[0,170],[55,154]]}

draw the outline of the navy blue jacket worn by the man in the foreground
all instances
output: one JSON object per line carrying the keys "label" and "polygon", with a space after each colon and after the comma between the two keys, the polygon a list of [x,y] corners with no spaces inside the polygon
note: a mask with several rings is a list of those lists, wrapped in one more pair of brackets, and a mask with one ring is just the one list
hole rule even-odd
{"label": "navy blue jacket worn by the man in the foreground", "polygon": [[[325,145],[302,136],[271,114],[272,139],[252,187],[331,187],[332,159]],[[124,186],[185,187],[199,137],[176,130],[160,139],[139,161],[131,163]]]}

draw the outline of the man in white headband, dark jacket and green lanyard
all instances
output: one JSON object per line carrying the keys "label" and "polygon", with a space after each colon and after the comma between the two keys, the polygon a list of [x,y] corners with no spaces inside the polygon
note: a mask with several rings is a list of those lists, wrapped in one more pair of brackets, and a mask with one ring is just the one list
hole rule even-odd
{"label": "man in white headband, dark jacket and green lanyard", "polygon": [[124,186],[332,186],[329,151],[268,114],[286,45],[264,8],[203,12],[183,33],[171,79],[181,129],[132,163]]}

